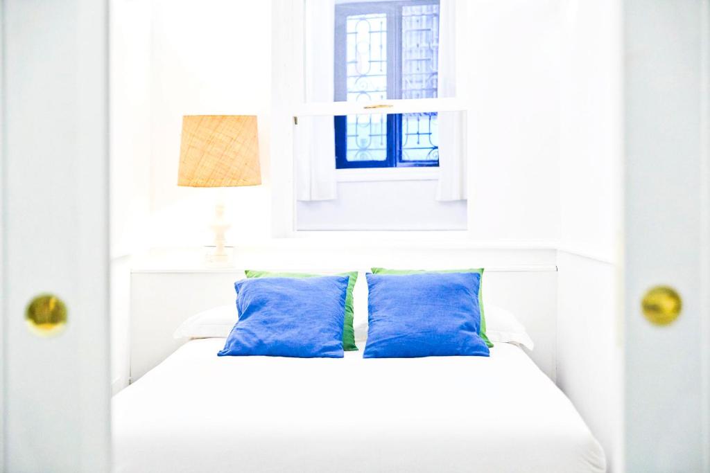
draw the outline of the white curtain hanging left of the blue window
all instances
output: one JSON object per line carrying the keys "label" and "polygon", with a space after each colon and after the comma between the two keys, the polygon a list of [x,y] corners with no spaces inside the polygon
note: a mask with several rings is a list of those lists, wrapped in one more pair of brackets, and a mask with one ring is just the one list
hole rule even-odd
{"label": "white curtain hanging left of the blue window", "polygon": [[[305,101],[334,100],[334,0],[305,2]],[[332,116],[299,117],[294,126],[296,198],[337,199]]]}

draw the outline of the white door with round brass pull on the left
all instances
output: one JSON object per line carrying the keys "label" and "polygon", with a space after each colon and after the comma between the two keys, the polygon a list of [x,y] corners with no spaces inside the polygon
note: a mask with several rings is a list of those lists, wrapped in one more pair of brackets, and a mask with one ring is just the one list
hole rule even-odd
{"label": "white door with round brass pull on the left", "polygon": [[107,4],[0,8],[3,471],[107,472]]}

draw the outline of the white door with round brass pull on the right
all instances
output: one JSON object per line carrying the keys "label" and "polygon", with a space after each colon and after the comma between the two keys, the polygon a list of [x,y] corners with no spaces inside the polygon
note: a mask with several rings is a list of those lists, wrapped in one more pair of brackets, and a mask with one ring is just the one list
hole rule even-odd
{"label": "white door with round brass pull on the right", "polygon": [[[710,472],[708,2],[627,0],[623,23],[625,471]],[[655,286],[682,301],[667,325]]]}

